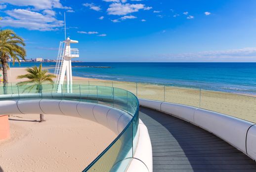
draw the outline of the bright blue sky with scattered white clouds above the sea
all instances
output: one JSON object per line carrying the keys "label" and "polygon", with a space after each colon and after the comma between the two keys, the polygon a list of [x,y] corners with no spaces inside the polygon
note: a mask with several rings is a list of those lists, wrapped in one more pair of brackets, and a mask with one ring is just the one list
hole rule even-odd
{"label": "bright blue sky with scattered white clouds above the sea", "polygon": [[27,58],[67,36],[83,61],[256,61],[256,0],[0,0]]}

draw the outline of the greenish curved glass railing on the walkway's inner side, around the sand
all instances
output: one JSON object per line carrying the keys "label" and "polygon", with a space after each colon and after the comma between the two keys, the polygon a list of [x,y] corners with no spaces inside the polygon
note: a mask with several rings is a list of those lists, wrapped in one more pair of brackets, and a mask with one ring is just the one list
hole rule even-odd
{"label": "greenish curved glass railing on the walkway's inner side, around the sand", "polygon": [[[60,86],[60,89],[58,89]],[[72,90],[72,92],[70,91]],[[103,104],[127,112],[131,115],[125,129],[118,137],[88,166],[84,172],[125,172],[134,155],[138,128],[137,97],[124,89],[111,86],[93,85],[26,85],[9,83],[0,86],[1,100],[17,99],[55,99]]]}

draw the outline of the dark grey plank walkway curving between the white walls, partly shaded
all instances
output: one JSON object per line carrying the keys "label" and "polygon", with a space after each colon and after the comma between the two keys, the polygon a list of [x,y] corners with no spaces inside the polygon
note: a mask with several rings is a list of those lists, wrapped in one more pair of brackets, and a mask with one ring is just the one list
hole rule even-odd
{"label": "dark grey plank walkway curving between the white walls, partly shaded", "polygon": [[256,163],[182,119],[140,107],[153,148],[153,172],[256,172]]}

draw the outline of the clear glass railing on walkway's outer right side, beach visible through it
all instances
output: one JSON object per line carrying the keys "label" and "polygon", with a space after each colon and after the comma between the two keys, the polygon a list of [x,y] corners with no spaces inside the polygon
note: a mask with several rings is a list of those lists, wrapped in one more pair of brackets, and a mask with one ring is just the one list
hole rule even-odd
{"label": "clear glass railing on walkway's outer right side, beach visible through it", "polygon": [[[80,81],[79,81],[80,82]],[[138,98],[202,108],[256,123],[256,95],[213,91],[200,87],[178,87],[118,81],[85,81],[87,84],[126,89]],[[256,92],[256,90],[255,90]]]}

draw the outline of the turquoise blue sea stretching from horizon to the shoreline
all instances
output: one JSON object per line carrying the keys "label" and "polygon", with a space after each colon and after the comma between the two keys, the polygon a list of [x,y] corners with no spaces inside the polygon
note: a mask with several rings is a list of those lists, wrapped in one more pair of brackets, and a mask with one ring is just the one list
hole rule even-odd
{"label": "turquoise blue sea stretching from horizon to the shoreline", "polygon": [[[39,66],[38,62],[15,67]],[[11,65],[12,66],[12,65]],[[256,63],[130,63],[73,62],[73,75],[104,80],[130,81],[256,95]],[[55,67],[44,62],[43,67]],[[49,69],[54,72],[54,69]]]}

